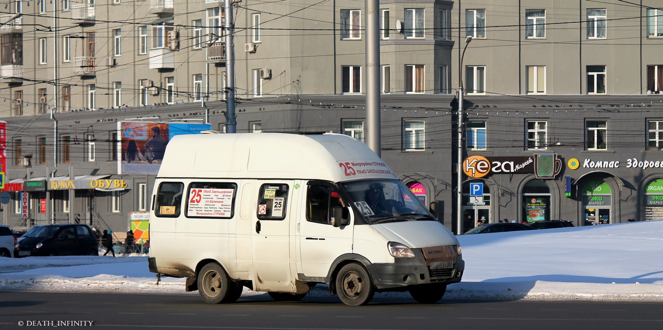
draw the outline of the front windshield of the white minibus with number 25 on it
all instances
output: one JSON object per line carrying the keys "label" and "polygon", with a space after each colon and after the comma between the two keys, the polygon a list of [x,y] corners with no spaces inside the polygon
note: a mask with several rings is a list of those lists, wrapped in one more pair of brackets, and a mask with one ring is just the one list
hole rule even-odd
{"label": "front windshield of the white minibus with number 25 on it", "polygon": [[341,188],[371,224],[435,220],[419,199],[399,180],[341,182]]}

